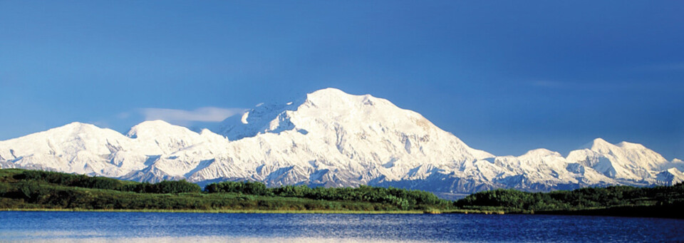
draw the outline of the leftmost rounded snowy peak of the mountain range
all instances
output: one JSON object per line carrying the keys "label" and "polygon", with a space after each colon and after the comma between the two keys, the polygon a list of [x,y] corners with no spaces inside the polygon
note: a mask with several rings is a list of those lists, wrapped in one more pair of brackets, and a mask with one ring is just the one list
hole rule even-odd
{"label": "leftmost rounded snowy peak of the mountain range", "polygon": [[0,142],[0,156],[12,167],[118,176],[142,169],[136,155],[122,156],[130,141],[114,130],[70,123],[41,133]]}

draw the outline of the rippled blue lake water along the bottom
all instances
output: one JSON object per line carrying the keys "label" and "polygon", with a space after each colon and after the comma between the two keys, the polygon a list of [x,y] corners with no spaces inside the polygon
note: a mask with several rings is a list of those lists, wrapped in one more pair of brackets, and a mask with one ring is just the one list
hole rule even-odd
{"label": "rippled blue lake water along the bottom", "polygon": [[683,242],[684,220],[484,214],[0,212],[0,242]]}

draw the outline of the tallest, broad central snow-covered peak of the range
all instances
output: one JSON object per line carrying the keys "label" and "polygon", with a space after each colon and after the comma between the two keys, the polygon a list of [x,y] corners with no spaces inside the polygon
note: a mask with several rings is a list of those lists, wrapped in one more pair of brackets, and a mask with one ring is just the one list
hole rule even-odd
{"label": "tallest, broad central snow-covered peak of the range", "polygon": [[[425,178],[493,157],[388,100],[333,88],[285,105],[260,105],[246,114],[226,121],[225,135],[239,139],[229,146],[229,160],[217,158],[190,180],[249,177],[269,185],[358,185],[378,177]],[[422,165],[433,169],[417,169]],[[223,170],[237,166],[240,170]]]}

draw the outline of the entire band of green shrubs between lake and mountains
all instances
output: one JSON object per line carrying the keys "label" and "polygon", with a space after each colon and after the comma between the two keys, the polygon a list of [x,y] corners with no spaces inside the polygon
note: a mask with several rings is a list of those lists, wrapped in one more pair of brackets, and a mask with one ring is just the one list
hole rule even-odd
{"label": "entire band of green shrubs between lake and mountains", "polygon": [[197,212],[482,212],[678,217],[684,185],[587,187],[572,191],[492,190],[462,200],[398,188],[266,187],[261,182],[131,182],[40,170],[0,170],[0,210]]}

